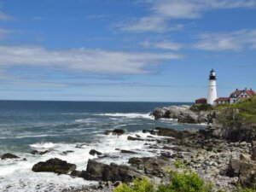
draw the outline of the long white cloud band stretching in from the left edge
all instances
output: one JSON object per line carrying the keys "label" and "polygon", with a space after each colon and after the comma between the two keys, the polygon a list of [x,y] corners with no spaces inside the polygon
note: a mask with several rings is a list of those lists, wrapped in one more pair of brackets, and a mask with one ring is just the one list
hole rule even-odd
{"label": "long white cloud band stretching in from the left edge", "polygon": [[0,69],[9,67],[49,67],[81,73],[150,73],[162,61],[183,58],[173,53],[133,53],[102,49],[59,49],[0,46]]}

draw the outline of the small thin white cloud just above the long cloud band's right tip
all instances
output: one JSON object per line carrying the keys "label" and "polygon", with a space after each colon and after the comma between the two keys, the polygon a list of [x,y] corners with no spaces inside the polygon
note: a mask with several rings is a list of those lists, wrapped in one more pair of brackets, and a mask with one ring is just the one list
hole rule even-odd
{"label": "small thin white cloud just above the long cloud band's right tip", "polygon": [[183,48],[183,44],[178,44],[170,41],[163,41],[159,43],[151,43],[148,41],[144,41],[141,43],[146,48],[158,48],[158,49],[170,49],[170,50],[178,50]]}

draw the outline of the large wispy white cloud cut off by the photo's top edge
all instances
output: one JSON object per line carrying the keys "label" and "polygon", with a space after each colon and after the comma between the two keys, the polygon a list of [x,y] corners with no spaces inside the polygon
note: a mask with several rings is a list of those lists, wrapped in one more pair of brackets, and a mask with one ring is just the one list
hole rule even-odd
{"label": "large wispy white cloud cut off by the photo's top edge", "polygon": [[214,9],[252,9],[256,0],[145,0],[149,15],[132,20],[123,20],[119,30],[127,32],[170,32],[182,29],[182,25],[169,23],[170,20],[197,19]]}

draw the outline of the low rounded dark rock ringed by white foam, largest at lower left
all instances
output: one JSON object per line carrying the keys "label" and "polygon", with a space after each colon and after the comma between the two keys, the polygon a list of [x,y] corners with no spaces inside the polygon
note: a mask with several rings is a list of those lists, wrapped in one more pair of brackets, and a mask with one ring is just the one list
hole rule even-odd
{"label": "low rounded dark rock ringed by white foam, largest at lower left", "polygon": [[33,172],[55,172],[59,174],[67,174],[73,172],[76,169],[76,165],[67,163],[66,160],[49,159],[45,162],[38,162],[32,166]]}

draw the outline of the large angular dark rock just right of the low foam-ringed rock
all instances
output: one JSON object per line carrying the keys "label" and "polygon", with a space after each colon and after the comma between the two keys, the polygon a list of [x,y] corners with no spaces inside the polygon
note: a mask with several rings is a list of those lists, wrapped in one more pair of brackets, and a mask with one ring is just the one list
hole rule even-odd
{"label": "large angular dark rock just right of the low foam-ringed rock", "polygon": [[86,180],[96,181],[122,181],[132,182],[134,178],[141,177],[139,172],[129,166],[106,165],[96,160],[88,160],[86,171],[81,172],[81,177]]}

